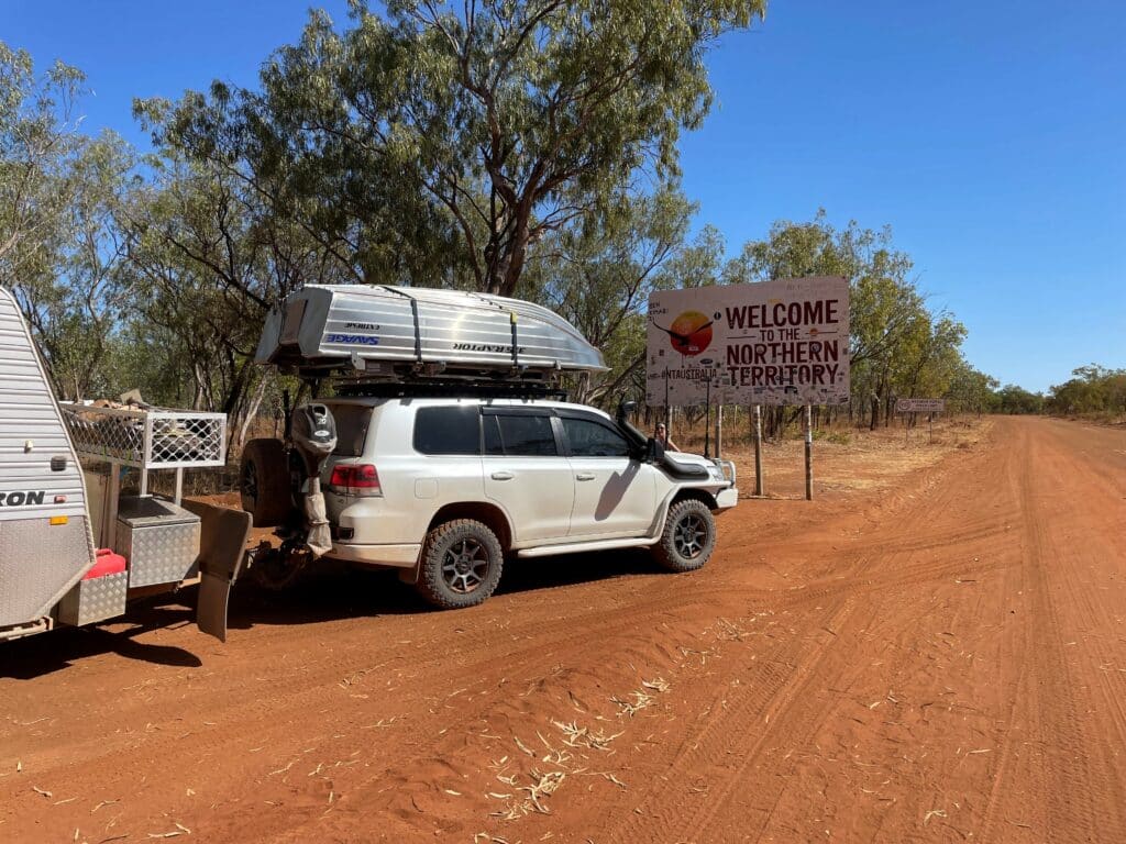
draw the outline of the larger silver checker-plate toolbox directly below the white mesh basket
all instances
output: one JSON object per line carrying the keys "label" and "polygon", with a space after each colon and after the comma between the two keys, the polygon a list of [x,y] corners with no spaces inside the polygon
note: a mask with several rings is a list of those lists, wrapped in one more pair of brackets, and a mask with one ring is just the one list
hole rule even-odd
{"label": "larger silver checker-plate toolbox directly below the white mesh basket", "polygon": [[196,576],[199,517],[163,499],[123,496],[114,550],[128,560],[129,589]]}

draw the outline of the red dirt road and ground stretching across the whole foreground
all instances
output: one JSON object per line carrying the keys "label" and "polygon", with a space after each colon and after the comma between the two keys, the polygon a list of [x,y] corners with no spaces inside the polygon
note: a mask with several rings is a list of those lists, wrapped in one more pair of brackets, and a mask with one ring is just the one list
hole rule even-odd
{"label": "red dirt road and ground stretching across the whole foreground", "polygon": [[333,573],[232,618],[0,647],[0,841],[1126,841],[1124,431],[744,501],[694,575],[528,562],[436,613]]}

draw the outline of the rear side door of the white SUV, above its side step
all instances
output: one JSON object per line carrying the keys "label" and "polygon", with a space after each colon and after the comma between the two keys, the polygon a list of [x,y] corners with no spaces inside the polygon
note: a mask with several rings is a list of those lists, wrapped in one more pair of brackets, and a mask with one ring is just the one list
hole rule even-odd
{"label": "rear side door of the white SUV, above its side step", "polygon": [[483,408],[485,495],[508,513],[513,541],[563,541],[574,475],[549,408]]}

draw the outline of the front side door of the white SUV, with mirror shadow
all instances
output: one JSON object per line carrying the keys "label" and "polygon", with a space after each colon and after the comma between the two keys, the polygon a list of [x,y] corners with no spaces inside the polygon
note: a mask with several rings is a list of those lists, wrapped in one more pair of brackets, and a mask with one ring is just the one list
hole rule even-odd
{"label": "front side door of the white SUV, with mirror shadow", "polygon": [[593,414],[561,414],[574,473],[572,537],[628,537],[649,531],[656,510],[653,467],[632,455],[626,438]]}

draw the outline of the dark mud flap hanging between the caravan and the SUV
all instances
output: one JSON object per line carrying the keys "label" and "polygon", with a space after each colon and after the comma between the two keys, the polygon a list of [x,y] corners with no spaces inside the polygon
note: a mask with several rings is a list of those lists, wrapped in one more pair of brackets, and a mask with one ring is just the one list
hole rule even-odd
{"label": "dark mud flap hanging between the caravan and the SUV", "polygon": [[199,517],[199,603],[196,625],[226,641],[226,605],[239,576],[250,538],[250,513],[185,500],[182,506]]}

